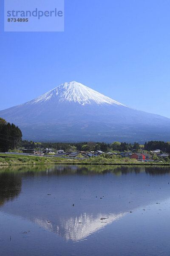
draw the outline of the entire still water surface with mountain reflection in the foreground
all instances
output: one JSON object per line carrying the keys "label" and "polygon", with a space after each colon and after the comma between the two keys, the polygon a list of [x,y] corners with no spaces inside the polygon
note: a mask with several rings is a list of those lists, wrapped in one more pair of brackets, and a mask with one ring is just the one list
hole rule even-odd
{"label": "entire still water surface with mountain reflection in the foreground", "polygon": [[0,168],[0,256],[169,256],[170,168]]}

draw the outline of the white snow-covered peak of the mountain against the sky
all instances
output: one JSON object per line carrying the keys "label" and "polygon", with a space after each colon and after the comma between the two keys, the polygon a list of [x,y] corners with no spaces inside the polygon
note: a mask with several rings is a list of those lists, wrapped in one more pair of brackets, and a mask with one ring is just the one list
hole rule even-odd
{"label": "white snow-covered peak of the mountain against the sky", "polygon": [[36,104],[38,102],[46,102],[51,99],[54,99],[56,102],[75,102],[80,105],[123,105],[76,81],[61,84],[26,104]]}

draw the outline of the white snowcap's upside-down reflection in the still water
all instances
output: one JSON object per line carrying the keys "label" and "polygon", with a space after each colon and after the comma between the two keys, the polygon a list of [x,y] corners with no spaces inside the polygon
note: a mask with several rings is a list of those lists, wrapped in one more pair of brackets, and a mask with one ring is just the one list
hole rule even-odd
{"label": "white snowcap's upside-down reflection in the still water", "polygon": [[125,213],[102,215],[101,213],[93,217],[93,214],[81,214],[79,217],[69,219],[60,218],[58,223],[52,223],[48,220],[34,219],[34,222],[45,230],[57,233],[66,240],[79,241],[85,239],[92,233],[111,224],[113,221],[122,218]]}

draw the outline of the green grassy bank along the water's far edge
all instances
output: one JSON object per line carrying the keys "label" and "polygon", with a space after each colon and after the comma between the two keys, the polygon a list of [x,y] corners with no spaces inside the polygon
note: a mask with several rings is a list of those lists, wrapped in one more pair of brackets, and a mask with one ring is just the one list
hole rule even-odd
{"label": "green grassy bank along the water's far edge", "polygon": [[170,163],[138,162],[129,158],[91,157],[88,159],[65,159],[60,157],[34,157],[15,154],[0,154],[0,166],[36,165],[36,164],[91,164],[91,165],[166,165]]}

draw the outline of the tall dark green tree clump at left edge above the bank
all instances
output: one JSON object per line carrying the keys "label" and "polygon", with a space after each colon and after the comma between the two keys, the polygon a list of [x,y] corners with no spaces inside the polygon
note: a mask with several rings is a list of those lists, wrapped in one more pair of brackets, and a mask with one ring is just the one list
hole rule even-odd
{"label": "tall dark green tree clump at left edge above the bank", "polygon": [[18,149],[22,141],[22,132],[18,126],[0,118],[0,151]]}

